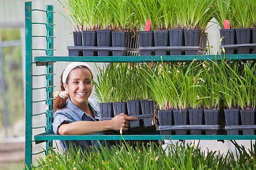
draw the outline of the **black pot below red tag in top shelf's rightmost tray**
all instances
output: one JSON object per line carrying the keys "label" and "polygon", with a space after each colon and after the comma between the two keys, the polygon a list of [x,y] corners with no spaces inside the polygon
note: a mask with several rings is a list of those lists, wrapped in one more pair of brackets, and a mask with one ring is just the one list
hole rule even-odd
{"label": "black pot below red tag in top shelf's rightmost tray", "polygon": [[221,45],[237,44],[236,29],[220,29]]}

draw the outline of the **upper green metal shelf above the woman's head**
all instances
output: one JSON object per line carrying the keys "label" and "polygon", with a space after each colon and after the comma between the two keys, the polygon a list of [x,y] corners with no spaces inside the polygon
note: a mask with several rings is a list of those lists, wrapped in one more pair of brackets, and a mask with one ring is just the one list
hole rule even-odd
{"label": "upper green metal shelf above the woman's head", "polygon": [[57,62],[57,61],[82,61],[82,62],[154,62],[154,61],[192,61],[196,59],[197,61],[204,60],[229,60],[229,59],[239,59],[239,60],[254,60],[256,59],[256,54],[226,54],[224,55],[192,55],[192,56],[104,56],[104,57],[83,57],[83,56],[40,56],[35,57],[35,62]]}

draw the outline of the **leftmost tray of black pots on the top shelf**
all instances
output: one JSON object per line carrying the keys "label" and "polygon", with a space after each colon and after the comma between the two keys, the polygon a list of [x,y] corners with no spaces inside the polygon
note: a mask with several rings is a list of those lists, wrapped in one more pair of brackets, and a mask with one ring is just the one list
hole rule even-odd
{"label": "leftmost tray of black pots on the top shelf", "polygon": [[74,45],[68,56],[138,56],[138,33],[127,31],[73,32]]}

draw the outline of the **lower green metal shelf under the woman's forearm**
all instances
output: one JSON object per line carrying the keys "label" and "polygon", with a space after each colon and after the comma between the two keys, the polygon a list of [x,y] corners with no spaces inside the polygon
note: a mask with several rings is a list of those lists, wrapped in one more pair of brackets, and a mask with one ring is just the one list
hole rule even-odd
{"label": "lower green metal shelf under the woman's forearm", "polygon": [[[256,140],[256,135],[123,135],[125,140]],[[104,135],[102,133],[89,135],[55,135],[52,131],[34,136],[36,143],[51,140],[122,140],[121,135]]]}

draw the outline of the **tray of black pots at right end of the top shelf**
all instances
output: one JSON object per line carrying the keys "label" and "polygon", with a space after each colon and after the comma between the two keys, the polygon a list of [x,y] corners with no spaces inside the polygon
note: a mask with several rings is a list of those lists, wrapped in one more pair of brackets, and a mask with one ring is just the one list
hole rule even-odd
{"label": "tray of black pots at right end of the top shelf", "polygon": [[[220,29],[225,54],[254,54],[256,52],[256,28]],[[224,53],[222,51],[222,53]]]}

